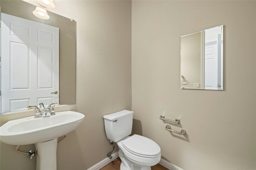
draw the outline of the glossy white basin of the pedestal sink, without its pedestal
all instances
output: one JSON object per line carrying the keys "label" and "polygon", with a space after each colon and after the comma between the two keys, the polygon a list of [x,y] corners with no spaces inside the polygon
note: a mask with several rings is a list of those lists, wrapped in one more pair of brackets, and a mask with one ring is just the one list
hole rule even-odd
{"label": "glossy white basin of the pedestal sink, without its pedestal", "polygon": [[49,117],[24,117],[8,121],[0,127],[0,140],[9,145],[29,145],[49,141],[73,131],[84,115],[60,111]]}

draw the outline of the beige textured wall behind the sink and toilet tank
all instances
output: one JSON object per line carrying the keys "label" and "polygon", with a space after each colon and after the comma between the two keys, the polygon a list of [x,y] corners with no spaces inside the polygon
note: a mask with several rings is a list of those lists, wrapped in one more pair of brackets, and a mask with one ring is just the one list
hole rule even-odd
{"label": "beige textured wall behind the sink and toilet tank", "polygon": [[[105,135],[103,115],[132,109],[132,2],[54,2],[56,8],[52,12],[77,22],[77,104],[71,109],[85,115],[82,125],[58,144],[57,167],[58,170],[86,170],[106,158],[106,153],[112,150]],[[1,119],[8,120],[18,115],[3,116]],[[20,149],[27,151],[32,147],[21,146]],[[0,169],[35,170],[36,159],[30,161],[15,148],[1,143]]]}

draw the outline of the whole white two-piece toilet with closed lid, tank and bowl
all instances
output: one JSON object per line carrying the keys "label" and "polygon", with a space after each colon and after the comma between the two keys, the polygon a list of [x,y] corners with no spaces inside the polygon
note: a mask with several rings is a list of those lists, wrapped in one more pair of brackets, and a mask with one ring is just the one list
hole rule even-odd
{"label": "whole white two-piece toilet with closed lid, tank and bowl", "polygon": [[151,170],[160,162],[161,149],[151,139],[132,135],[133,111],[122,110],[104,115],[107,138],[117,143],[122,161],[120,170]]}

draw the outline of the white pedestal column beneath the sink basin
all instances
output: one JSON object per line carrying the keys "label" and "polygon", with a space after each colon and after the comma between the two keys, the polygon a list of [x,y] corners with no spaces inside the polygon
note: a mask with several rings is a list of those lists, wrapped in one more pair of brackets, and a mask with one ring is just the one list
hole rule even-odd
{"label": "white pedestal column beneath the sink basin", "polygon": [[57,141],[58,138],[50,141],[36,143],[36,170],[57,170]]}

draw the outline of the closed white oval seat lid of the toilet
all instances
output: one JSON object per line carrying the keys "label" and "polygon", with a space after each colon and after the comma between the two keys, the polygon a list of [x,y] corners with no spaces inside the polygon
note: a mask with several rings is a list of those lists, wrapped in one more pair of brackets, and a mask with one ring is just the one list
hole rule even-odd
{"label": "closed white oval seat lid of the toilet", "polygon": [[132,135],[122,141],[123,148],[136,156],[155,158],[161,153],[160,147],[147,137]]}

